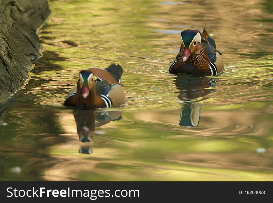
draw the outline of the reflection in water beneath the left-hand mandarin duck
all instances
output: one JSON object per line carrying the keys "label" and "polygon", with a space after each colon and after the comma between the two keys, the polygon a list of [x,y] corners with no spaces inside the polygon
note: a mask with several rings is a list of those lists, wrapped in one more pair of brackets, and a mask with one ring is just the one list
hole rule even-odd
{"label": "reflection in water beneath the left-hand mandarin duck", "polygon": [[[95,111],[92,109],[75,109],[73,115],[77,124],[77,133],[81,142],[93,141],[93,132],[97,127],[111,121],[122,119],[121,111]],[[79,153],[92,154],[91,146],[81,146]]]}

